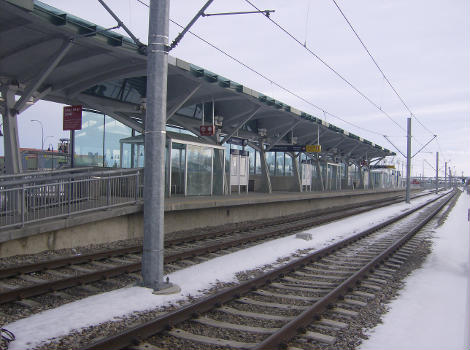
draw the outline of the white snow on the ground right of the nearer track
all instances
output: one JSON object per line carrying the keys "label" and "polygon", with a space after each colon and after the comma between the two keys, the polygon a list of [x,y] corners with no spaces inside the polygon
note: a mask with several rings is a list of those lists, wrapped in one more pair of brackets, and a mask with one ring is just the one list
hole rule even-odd
{"label": "white snow on the ground right of the nearer track", "polygon": [[435,229],[433,251],[406,280],[383,324],[360,350],[463,350],[470,348],[470,195],[463,193],[444,225]]}

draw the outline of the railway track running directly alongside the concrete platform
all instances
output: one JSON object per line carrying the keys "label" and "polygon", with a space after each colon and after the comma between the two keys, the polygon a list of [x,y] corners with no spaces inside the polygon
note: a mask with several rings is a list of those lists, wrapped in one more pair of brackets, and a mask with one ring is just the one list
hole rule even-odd
{"label": "railway track running directly alongside the concrete platform", "polygon": [[[419,196],[421,195],[416,197]],[[170,239],[165,242],[165,272],[199,263],[201,259],[210,257],[210,254],[224,254],[226,250],[245,248],[247,244],[257,244],[399,201],[401,196],[389,201],[375,200],[361,206],[345,206],[340,210],[323,210],[322,215],[315,217],[312,214],[303,214],[269,222],[244,224],[235,230],[212,230],[191,237]],[[73,298],[77,298],[102,292],[102,289],[91,285],[95,282],[104,281],[106,290],[135,283],[140,279],[138,272],[141,269],[141,250],[142,247],[136,245],[2,269],[0,305],[13,302],[34,309],[49,302],[47,298],[34,299],[44,294],[50,294],[54,300],[59,298],[67,301],[71,296],[63,291],[67,289],[69,292],[72,287],[79,288],[79,291],[71,293]],[[13,312],[14,308],[8,310]]]}

